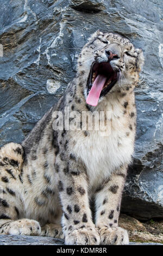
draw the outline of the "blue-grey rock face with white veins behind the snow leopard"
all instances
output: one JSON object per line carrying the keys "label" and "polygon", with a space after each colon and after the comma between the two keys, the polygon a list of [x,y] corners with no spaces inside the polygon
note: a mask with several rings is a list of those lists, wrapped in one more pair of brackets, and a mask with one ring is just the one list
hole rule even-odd
{"label": "blue-grey rock face with white veins behind the snow leopard", "polygon": [[57,102],[76,74],[80,49],[97,29],[127,36],[143,49],[146,62],[135,89],[134,164],[129,169],[122,211],[141,220],[162,218],[162,0],[0,3],[1,145],[21,142]]}

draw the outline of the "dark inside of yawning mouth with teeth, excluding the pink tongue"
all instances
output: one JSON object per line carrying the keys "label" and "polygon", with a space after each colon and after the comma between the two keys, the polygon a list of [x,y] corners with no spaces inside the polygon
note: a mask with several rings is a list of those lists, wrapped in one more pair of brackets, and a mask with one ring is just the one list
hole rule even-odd
{"label": "dark inside of yawning mouth with teeth, excluding the pink tongue", "polygon": [[118,72],[113,70],[110,62],[93,62],[87,78],[87,95],[89,94],[97,76],[105,77],[105,82],[99,97],[105,96],[117,82]]}

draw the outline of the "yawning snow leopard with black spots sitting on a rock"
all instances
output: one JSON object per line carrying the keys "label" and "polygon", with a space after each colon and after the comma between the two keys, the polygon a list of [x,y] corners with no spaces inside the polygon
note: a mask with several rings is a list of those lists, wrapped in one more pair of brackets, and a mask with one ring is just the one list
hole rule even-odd
{"label": "yawning snow leopard with black spots sitting on a rock", "polygon": [[[99,31],[91,36],[57,105],[22,144],[0,150],[0,234],[60,237],[66,245],[129,242],[118,216],[134,151],[134,87],[142,65],[142,50],[128,39]],[[73,113],[104,112],[108,135],[89,130],[87,119],[86,129],[83,119],[82,129],[54,129],[60,121],[54,113],[65,117],[66,107],[69,121]]]}

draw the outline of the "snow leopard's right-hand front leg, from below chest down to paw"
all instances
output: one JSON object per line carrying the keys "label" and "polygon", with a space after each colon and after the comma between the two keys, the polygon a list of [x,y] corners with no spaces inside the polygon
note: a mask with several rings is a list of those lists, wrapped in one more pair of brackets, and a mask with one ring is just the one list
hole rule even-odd
{"label": "snow leopard's right-hand front leg, from below chest down to paw", "polygon": [[118,217],[126,180],[127,165],[111,174],[108,181],[96,192],[96,227],[102,245],[125,245],[129,243],[128,233],[118,227]]}

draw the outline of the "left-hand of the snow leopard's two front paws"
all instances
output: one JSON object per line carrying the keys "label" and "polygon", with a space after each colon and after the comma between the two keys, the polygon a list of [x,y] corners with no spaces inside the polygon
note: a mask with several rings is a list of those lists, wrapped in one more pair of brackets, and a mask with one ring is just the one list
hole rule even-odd
{"label": "left-hand of the snow leopard's two front paws", "polygon": [[101,239],[95,228],[74,229],[65,235],[66,245],[99,245]]}

